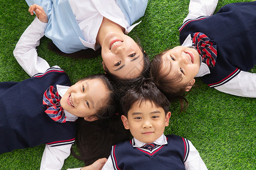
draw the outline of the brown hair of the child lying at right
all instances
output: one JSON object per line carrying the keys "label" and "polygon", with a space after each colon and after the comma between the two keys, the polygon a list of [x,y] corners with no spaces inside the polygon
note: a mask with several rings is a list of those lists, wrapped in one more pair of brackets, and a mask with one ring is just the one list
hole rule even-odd
{"label": "brown hair of the child lying at right", "polygon": [[184,108],[183,101],[185,101],[185,108],[188,105],[188,101],[185,99],[184,92],[188,89],[188,84],[180,83],[182,80],[181,74],[176,73],[172,76],[172,78],[168,78],[168,74],[170,73],[170,70],[162,70],[163,66],[163,60],[162,55],[166,53],[160,53],[154,57],[151,61],[150,65],[150,73],[151,76],[156,84],[156,86],[159,88],[161,92],[163,92],[164,95],[166,95],[167,99],[171,102],[173,100],[179,99],[180,100],[180,107],[181,110]]}

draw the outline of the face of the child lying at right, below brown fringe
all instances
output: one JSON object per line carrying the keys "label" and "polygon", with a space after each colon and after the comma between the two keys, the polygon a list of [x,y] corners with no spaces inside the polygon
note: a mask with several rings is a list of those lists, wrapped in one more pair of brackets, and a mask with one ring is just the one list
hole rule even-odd
{"label": "face of the child lying at right, below brown fringe", "polygon": [[[163,67],[161,71],[170,71],[167,75],[172,78],[173,75],[181,74],[182,84],[189,84],[194,81],[200,68],[200,56],[196,49],[186,46],[176,46],[168,50],[162,56]],[[170,70],[171,68],[171,70]],[[193,84],[189,84],[193,85]]]}

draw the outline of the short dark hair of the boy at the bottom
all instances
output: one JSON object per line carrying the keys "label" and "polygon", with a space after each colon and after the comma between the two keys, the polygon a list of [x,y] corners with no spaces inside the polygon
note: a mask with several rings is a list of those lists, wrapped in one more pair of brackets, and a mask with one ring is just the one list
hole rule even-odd
{"label": "short dark hair of the boy at the bottom", "polygon": [[143,101],[150,101],[156,107],[163,108],[166,114],[169,112],[170,102],[166,96],[158,90],[151,79],[144,79],[139,86],[130,88],[125,96],[122,97],[121,106],[123,114],[127,117],[132,105],[137,102],[141,104]]}

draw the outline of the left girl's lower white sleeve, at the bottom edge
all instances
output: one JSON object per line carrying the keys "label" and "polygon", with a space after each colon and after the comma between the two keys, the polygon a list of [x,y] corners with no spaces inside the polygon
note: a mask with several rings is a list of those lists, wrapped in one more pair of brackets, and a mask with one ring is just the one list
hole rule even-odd
{"label": "left girl's lower white sleeve, at the bottom edge", "polygon": [[72,144],[62,146],[46,145],[44,149],[40,170],[61,169],[64,160],[70,155]]}

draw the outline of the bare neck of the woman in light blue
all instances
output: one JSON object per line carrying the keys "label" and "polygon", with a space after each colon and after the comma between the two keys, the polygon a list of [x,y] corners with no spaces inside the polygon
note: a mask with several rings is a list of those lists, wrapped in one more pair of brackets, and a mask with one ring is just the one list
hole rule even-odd
{"label": "bare neck of the woman in light blue", "polygon": [[98,34],[97,34],[97,37],[96,37],[96,44],[102,45],[102,42],[103,42],[105,36],[109,32],[124,33],[125,32],[125,28],[121,27],[117,23],[114,23],[111,20],[109,20],[109,19],[104,17],[102,19],[101,27],[98,30]]}

